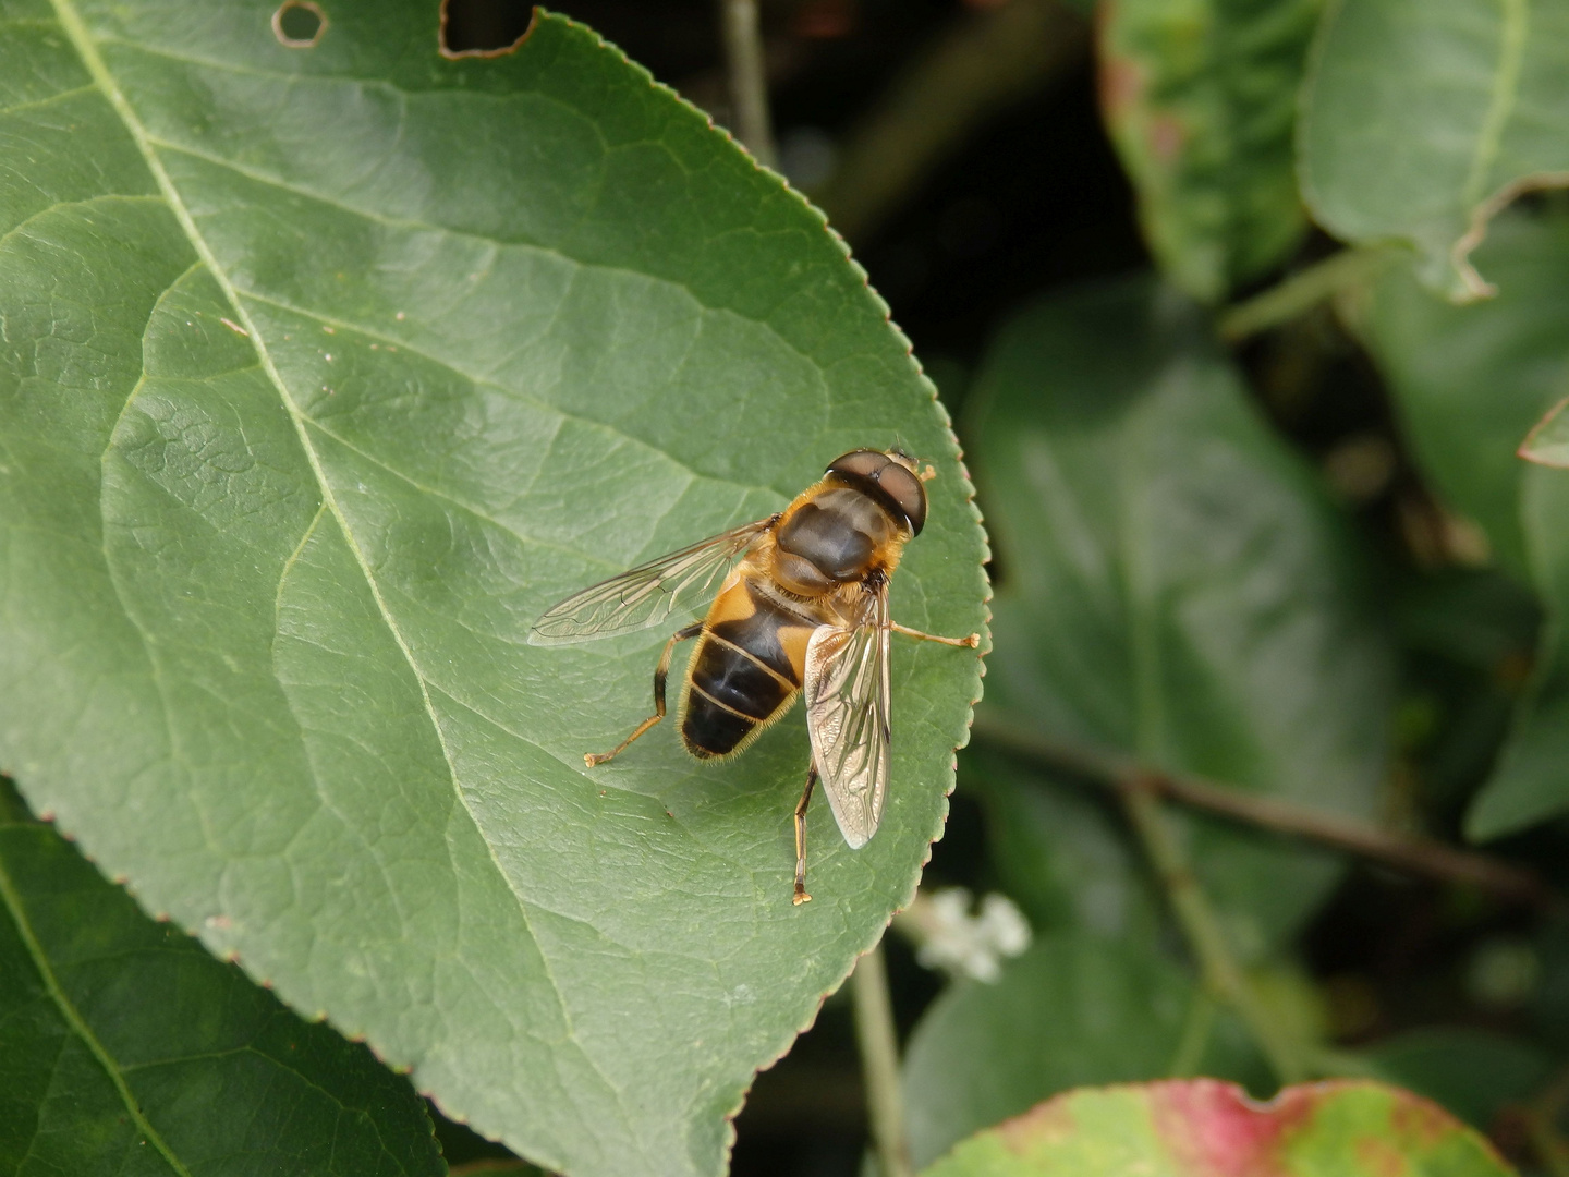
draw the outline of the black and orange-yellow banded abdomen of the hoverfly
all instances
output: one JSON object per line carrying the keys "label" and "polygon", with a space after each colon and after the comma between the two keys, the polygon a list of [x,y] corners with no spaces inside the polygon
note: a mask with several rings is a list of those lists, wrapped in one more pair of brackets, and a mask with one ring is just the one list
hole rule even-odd
{"label": "black and orange-yellow banded abdomen of the hoverfly", "polygon": [[[747,578],[714,599],[681,694],[681,741],[698,760],[737,752],[800,691],[814,623]],[[794,656],[792,656],[794,654]]]}

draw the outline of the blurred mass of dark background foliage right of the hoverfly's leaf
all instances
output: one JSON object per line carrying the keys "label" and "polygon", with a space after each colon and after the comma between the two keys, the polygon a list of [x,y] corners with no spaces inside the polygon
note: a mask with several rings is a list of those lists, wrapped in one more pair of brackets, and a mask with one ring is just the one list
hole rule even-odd
{"label": "blurred mass of dark background foliage right of the hoverfly's leaf", "polygon": [[[712,0],[562,8],[739,126]],[[992,982],[888,940],[918,1166],[1207,1073],[1385,1078],[1569,1171],[1569,474],[1516,457],[1569,395],[1569,9],[1514,8],[761,3],[753,146],[915,342],[993,538],[926,885],[1036,938]],[[734,1171],[857,1172],[858,1072],[836,997]]]}

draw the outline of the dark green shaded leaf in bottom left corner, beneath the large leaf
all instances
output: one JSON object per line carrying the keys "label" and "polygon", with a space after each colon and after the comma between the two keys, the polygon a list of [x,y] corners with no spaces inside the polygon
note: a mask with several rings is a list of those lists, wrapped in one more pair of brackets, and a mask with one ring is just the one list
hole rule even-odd
{"label": "dark green shaded leaf in bottom left corner, beneath the large leaf", "polygon": [[444,1174],[425,1105],[155,924],[0,778],[0,1171]]}

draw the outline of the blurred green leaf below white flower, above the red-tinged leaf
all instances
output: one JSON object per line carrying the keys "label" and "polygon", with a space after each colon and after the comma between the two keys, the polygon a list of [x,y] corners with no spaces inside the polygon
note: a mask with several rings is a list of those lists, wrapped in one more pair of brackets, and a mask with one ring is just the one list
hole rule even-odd
{"label": "blurred green leaf below white flower, above the red-tinged leaf", "polygon": [[1087,1083],[1185,1072],[1255,1075],[1240,1026],[1149,942],[1037,937],[996,984],[959,981],[910,1037],[910,1153],[924,1166],[965,1136]]}

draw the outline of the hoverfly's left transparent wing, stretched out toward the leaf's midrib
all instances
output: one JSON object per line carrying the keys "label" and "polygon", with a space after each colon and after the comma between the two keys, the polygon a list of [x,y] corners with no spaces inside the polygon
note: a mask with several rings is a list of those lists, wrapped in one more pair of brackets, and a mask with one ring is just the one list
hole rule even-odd
{"label": "hoverfly's left transparent wing, stretched out toward the leaf's midrib", "polygon": [[529,645],[587,642],[659,625],[678,606],[701,598],[777,518],[720,532],[568,596],[533,623]]}

